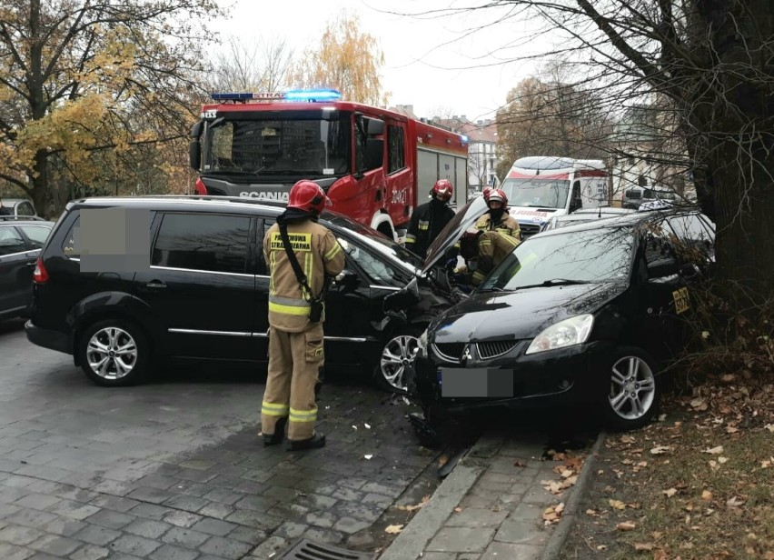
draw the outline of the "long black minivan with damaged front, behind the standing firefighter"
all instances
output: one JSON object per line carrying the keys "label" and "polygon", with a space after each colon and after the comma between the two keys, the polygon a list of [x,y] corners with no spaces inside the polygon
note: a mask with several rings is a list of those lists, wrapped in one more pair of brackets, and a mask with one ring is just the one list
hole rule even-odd
{"label": "long black minivan with damaged front, behind the standing firefighter", "polygon": [[[134,255],[138,264],[127,265],[123,255],[99,255],[94,263],[96,249],[88,245],[96,244],[82,233],[82,216],[100,210],[144,220],[136,235],[149,237]],[[228,197],[72,202],[37,261],[26,335],[73,355],[98,385],[138,383],[167,357],[265,362],[270,279],[262,243],[282,211],[283,205]],[[453,293],[421,272],[416,255],[379,232],[333,212],[323,213],[320,223],[346,252],[345,269],[326,297],[326,365],[373,368],[380,384],[402,390],[418,336],[439,305],[455,301],[447,299]],[[385,314],[384,296],[412,278],[422,301],[408,315]]]}

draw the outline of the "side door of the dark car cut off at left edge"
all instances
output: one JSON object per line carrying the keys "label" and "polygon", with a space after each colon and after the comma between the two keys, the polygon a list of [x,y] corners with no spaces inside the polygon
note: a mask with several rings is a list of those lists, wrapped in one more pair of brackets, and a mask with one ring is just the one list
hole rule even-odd
{"label": "side door of the dark car cut off at left edge", "polygon": [[36,251],[15,225],[0,224],[0,316],[19,315],[32,297]]}

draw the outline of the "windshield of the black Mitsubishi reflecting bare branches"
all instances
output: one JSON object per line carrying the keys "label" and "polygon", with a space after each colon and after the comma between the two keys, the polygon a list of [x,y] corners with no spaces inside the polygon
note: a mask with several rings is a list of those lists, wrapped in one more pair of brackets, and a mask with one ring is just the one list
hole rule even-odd
{"label": "windshield of the black Mitsubishi reflecting bare branches", "polygon": [[481,285],[481,291],[626,282],[633,248],[634,233],[624,227],[532,237],[492,271]]}

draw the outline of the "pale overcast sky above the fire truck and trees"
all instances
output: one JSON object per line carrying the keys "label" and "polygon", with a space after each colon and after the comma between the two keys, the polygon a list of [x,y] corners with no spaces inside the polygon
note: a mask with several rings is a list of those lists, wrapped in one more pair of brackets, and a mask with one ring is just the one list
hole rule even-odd
{"label": "pale overcast sky above the fire truck and trees", "polygon": [[[465,0],[467,5],[476,4]],[[384,52],[382,85],[390,104],[413,105],[419,116],[440,110],[471,120],[491,118],[505,103],[508,91],[534,72],[532,65],[506,63],[527,49],[547,49],[527,31],[520,15],[501,20],[505,12],[462,16],[417,14],[461,0],[220,0],[228,21],[213,25],[223,35],[250,39],[258,34],[284,37],[296,50],[317,45],[326,23],[340,9],[361,16],[362,31],[373,35]],[[479,2],[483,4],[483,2]],[[494,23],[493,23],[494,22]],[[475,27],[486,26],[471,33]]]}

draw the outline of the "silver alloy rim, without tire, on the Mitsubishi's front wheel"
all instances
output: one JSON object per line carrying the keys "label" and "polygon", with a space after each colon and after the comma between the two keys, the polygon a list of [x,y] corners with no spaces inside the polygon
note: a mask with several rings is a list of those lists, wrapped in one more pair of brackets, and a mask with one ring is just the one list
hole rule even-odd
{"label": "silver alloy rim, without tire, on the Mitsubishi's front wheel", "polygon": [[656,378],[650,365],[637,355],[623,355],[612,366],[610,410],[627,423],[646,417],[656,401]]}

